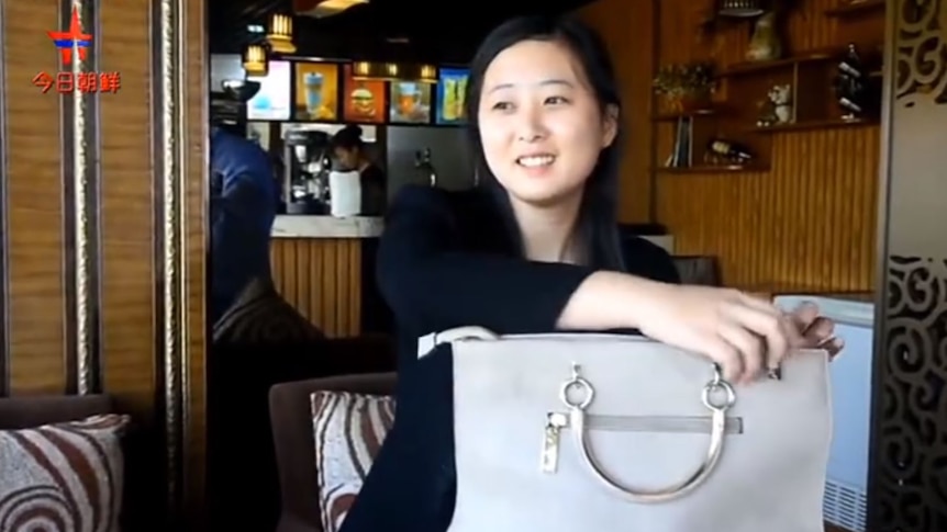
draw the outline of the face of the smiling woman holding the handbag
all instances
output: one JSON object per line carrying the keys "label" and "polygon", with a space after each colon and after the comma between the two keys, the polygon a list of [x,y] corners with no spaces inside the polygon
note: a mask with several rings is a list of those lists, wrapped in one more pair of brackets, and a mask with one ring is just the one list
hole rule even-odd
{"label": "face of the smiling woman holding the handbag", "polygon": [[575,54],[556,41],[523,41],[487,68],[478,117],[483,155],[511,199],[552,205],[581,195],[615,138]]}

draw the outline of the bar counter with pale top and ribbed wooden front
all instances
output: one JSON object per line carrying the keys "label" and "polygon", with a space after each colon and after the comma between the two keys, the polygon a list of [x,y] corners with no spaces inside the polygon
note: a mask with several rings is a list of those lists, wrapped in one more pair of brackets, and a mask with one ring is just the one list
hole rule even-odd
{"label": "bar counter with pale top and ribbed wooden front", "polygon": [[[377,239],[381,217],[279,215],[270,263],[286,301],[330,338],[361,333],[366,240]],[[370,281],[369,281],[370,282]]]}

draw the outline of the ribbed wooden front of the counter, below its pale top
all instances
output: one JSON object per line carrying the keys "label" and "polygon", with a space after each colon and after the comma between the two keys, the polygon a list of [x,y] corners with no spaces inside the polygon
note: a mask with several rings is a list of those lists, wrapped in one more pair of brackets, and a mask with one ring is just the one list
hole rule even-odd
{"label": "ribbed wooden front of the counter, below its pale top", "polygon": [[277,238],[271,251],[280,294],[332,338],[361,329],[361,240]]}

